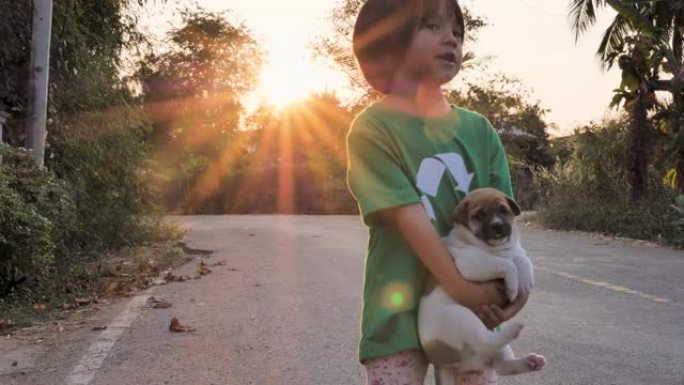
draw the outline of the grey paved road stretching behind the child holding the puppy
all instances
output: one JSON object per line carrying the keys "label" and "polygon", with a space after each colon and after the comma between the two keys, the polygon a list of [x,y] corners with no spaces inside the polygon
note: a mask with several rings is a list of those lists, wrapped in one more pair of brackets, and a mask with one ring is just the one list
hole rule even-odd
{"label": "grey paved road stretching behind the child holding the puppy", "polygon": [[[366,232],[357,218],[171,220],[190,229],[189,246],[214,250],[209,263],[225,265],[69,324],[58,343],[0,341],[0,383],[363,383],[356,343]],[[513,346],[546,355],[549,366],[500,384],[684,384],[683,252],[529,227],[523,242],[537,287]],[[149,295],[173,307],[141,307]],[[197,330],[170,333],[173,316]],[[91,331],[96,324],[108,332]]]}

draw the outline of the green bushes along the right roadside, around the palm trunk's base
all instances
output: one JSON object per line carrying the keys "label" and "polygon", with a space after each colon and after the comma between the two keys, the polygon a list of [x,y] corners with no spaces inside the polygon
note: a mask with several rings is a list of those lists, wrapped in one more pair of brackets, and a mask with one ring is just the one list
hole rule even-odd
{"label": "green bushes along the right roadside, around the palm trunk's base", "polygon": [[576,133],[566,162],[536,172],[538,218],[549,228],[676,244],[680,230],[671,223],[675,193],[662,183],[660,171],[649,170],[642,201],[630,199],[622,166],[623,127],[623,122],[613,121]]}

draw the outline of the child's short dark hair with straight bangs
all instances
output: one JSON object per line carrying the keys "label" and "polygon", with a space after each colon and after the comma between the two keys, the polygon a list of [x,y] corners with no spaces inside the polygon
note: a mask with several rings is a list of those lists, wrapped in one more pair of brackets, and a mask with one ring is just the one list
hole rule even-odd
{"label": "child's short dark hair with straight bangs", "polygon": [[367,0],[356,18],[354,56],[368,83],[388,94],[392,78],[421,23],[436,15],[442,1],[465,33],[463,12],[457,0]]}

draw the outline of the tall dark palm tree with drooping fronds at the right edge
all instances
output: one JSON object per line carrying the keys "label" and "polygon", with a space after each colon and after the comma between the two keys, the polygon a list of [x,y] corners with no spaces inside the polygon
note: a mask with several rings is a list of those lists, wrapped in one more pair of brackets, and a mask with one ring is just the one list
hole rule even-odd
{"label": "tall dark palm tree with drooping fronds at the right edge", "polygon": [[[684,117],[684,4],[678,0],[573,0],[570,18],[576,39],[596,22],[597,10],[605,6],[618,13],[606,29],[597,55],[605,68],[617,61],[622,70],[622,84],[612,105],[624,100],[631,117],[627,170],[632,197],[638,199],[645,192],[654,125],[665,127],[672,138],[660,161],[678,154],[677,186],[684,189],[684,127],[680,123]],[[671,77],[661,79],[663,74]],[[658,104],[656,91],[670,93],[672,103]],[[656,111],[651,120],[647,117],[649,110]]]}

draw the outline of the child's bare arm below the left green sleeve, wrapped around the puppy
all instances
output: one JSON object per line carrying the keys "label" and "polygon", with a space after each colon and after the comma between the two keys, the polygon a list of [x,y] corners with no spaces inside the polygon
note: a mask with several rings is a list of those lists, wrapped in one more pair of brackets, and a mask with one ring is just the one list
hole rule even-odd
{"label": "child's bare arm below the left green sleeve, wrapped around the puppy", "polygon": [[378,214],[385,223],[399,229],[423,265],[455,301],[475,312],[489,328],[504,321],[503,312],[496,305],[505,302],[500,283],[463,278],[421,204],[398,206]]}

